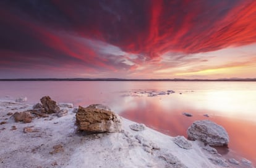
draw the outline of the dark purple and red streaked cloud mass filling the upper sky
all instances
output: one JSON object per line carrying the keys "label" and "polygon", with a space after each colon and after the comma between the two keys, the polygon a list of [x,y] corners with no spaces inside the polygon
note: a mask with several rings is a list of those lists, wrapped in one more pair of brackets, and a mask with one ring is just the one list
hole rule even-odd
{"label": "dark purple and red streaked cloud mass filling the upper sky", "polygon": [[[192,53],[256,42],[252,0],[23,0],[0,6],[1,67],[79,64],[114,72],[160,62],[167,52],[183,53],[173,55],[183,61]],[[88,41],[123,53],[98,51]]]}

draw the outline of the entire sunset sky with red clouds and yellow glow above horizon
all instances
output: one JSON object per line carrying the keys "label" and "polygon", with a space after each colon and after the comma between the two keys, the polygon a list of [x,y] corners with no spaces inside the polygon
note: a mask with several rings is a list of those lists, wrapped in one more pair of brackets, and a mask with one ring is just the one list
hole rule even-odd
{"label": "entire sunset sky with red clouds and yellow glow above horizon", "polygon": [[254,0],[2,0],[0,15],[0,78],[256,78]]}

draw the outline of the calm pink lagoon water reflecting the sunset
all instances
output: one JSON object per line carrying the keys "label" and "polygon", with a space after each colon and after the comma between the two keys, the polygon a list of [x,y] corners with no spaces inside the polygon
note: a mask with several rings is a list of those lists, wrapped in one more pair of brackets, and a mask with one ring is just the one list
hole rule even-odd
{"label": "calm pink lagoon water reflecting the sunset", "polygon": [[[144,94],[167,90],[175,93]],[[127,119],[171,136],[187,136],[195,120],[212,120],[229,133],[229,148],[219,152],[256,165],[256,82],[0,82],[0,98],[26,96],[28,103],[38,103],[45,95],[75,106],[106,104]]]}

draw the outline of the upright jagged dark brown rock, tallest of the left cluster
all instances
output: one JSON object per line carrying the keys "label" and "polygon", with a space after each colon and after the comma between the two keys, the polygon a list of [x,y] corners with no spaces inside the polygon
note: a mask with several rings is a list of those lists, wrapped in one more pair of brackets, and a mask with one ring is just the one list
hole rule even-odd
{"label": "upright jagged dark brown rock, tallest of the left cluster", "polygon": [[61,110],[59,106],[57,106],[56,101],[53,101],[49,96],[44,96],[40,101],[45,108],[45,112],[48,114],[57,113]]}

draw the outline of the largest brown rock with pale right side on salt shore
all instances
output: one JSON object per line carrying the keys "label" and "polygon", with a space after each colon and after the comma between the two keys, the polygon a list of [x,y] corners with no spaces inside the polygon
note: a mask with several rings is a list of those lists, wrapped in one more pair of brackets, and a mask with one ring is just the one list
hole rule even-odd
{"label": "largest brown rock with pale right side on salt shore", "polygon": [[75,115],[79,130],[87,132],[121,132],[122,121],[119,115],[105,108],[79,106]]}

